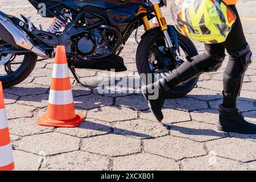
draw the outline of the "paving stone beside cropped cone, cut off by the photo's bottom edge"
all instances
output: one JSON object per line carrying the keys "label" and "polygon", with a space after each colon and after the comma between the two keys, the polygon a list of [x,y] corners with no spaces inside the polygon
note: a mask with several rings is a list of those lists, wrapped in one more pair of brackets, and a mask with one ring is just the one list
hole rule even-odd
{"label": "paving stone beside cropped cone, cut off by the photo's bottom edge", "polygon": [[13,155],[16,171],[35,171],[39,169],[41,156],[19,150],[14,150]]}

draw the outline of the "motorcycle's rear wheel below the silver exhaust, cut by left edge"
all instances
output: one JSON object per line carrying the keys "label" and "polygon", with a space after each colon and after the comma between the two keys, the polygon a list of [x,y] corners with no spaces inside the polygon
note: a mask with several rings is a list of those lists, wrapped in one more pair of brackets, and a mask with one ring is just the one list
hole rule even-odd
{"label": "motorcycle's rear wheel below the silver exhaust, cut by left edge", "polygon": [[37,59],[38,56],[34,53],[25,55],[0,53],[0,81],[3,88],[9,88],[24,81],[35,68]]}

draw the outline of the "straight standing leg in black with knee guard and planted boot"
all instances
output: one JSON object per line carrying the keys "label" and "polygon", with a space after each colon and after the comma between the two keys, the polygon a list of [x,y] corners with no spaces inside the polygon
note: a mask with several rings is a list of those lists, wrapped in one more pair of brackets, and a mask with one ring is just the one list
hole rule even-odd
{"label": "straight standing leg in black with knee guard and planted boot", "polygon": [[240,96],[243,77],[249,67],[253,53],[246,43],[242,24],[236,6],[230,6],[237,14],[237,20],[224,44],[229,53],[229,61],[223,78],[223,104],[219,106],[220,119],[218,129],[243,134],[255,134],[256,125],[245,121],[237,110],[237,99]]}

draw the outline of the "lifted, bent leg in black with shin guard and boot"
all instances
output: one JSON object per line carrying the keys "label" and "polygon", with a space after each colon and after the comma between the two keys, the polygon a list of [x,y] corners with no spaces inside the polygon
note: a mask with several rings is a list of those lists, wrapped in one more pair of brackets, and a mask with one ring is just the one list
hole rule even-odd
{"label": "lifted, bent leg in black with shin guard and boot", "polygon": [[[162,78],[151,85],[142,86],[142,92],[148,101],[148,106],[155,114],[158,121],[163,119],[161,110],[166,92],[182,82],[187,82],[199,76],[201,73],[214,72],[221,67],[225,57],[224,46],[222,44],[205,44],[205,49],[206,51],[201,55],[197,55],[189,59],[189,61],[185,61],[185,63],[174,70],[167,78]],[[159,89],[159,97],[152,99],[148,97],[148,90],[152,88]]]}

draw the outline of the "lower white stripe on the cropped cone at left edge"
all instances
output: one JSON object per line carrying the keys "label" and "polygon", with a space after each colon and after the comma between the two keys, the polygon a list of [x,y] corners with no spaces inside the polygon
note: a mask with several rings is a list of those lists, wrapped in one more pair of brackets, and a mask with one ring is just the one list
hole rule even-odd
{"label": "lower white stripe on the cropped cone at left edge", "polygon": [[11,146],[11,143],[0,147],[0,167],[8,166],[13,162],[13,147]]}

